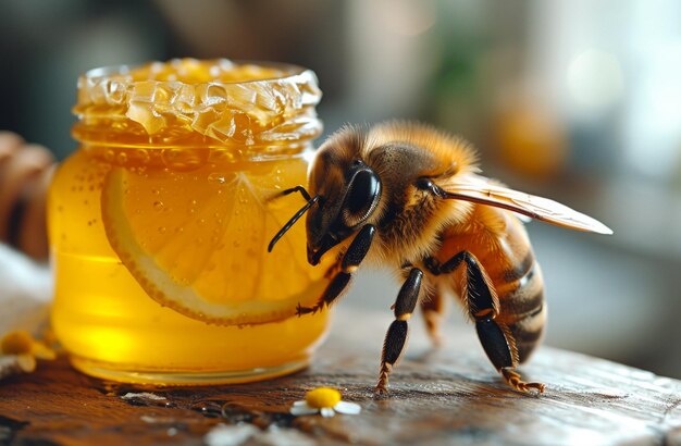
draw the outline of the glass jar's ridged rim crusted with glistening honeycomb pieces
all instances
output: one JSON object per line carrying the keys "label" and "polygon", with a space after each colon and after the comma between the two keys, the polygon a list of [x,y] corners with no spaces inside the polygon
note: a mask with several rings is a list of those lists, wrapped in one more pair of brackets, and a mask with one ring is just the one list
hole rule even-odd
{"label": "glass jar's ridged rim crusted with glistening honeycomb pieces", "polygon": [[314,72],[288,63],[187,58],[102,66],[78,78],[73,135],[146,146],[301,141],[321,134],[321,96]]}

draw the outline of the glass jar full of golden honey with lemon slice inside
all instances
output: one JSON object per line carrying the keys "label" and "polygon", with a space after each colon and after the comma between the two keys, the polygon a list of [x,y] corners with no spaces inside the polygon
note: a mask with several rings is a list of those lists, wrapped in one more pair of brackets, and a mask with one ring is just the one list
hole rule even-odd
{"label": "glass jar full of golden honey with lemon slice inside", "polygon": [[321,131],[314,75],[175,60],[78,82],[79,148],[50,190],[54,332],[79,370],[156,384],[248,382],[305,367],[329,312],[302,224]]}

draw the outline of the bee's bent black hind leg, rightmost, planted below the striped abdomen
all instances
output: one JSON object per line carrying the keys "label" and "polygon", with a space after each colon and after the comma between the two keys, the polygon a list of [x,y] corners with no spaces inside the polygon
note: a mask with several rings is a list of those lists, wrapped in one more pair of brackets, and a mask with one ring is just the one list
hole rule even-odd
{"label": "bee's bent black hind leg, rightmost, planted below the striped abdomen", "polygon": [[461,251],[439,265],[441,273],[456,270],[461,263],[466,268],[463,296],[470,318],[475,322],[475,331],[487,358],[511,387],[521,392],[531,388],[544,392],[542,383],[525,383],[515,371],[518,367],[518,349],[510,330],[497,320],[499,300],[487,273],[475,256]]}

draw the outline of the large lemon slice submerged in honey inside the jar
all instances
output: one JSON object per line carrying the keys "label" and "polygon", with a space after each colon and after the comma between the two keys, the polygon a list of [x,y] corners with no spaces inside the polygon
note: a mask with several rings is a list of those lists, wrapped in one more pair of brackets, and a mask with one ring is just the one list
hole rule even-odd
{"label": "large lemon slice submerged in honey inside the jar", "polygon": [[276,193],[272,178],[282,176],[271,164],[225,172],[113,168],[101,195],[109,243],[151,298],[187,317],[240,325],[294,315],[299,302],[315,302],[323,271],[306,262],[302,225],[267,252],[300,206],[268,200]]}

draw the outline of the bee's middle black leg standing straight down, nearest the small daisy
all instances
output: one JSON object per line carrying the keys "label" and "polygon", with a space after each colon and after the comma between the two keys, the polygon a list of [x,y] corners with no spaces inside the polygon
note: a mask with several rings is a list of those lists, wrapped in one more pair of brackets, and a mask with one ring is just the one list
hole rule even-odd
{"label": "bee's middle black leg standing straight down, nearest the small daisy", "polygon": [[422,277],[423,272],[421,270],[418,268],[411,269],[407,280],[397,294],[394,306],[395,320],[391,323],[385,335],[385,342],[383,343],[381,372],[379,374],[379,383],[374,391],[376,394],[387,394],[388,375],[393,371],[393,367],[399,359],[405,344],[407,343],[407,334],[409,332],[407,321],[411,318],[411,313],[413,313],[417,301],[419,300]]}

